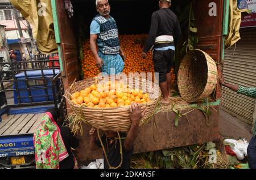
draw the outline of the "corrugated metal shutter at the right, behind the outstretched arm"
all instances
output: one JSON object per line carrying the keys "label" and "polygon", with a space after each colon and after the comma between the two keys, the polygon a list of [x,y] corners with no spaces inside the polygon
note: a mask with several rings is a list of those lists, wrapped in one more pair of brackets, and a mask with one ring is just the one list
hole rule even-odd
{"label": "corrugated metal shutter at the right, behind the outstretched arm", "polygon": [[[225,50],[223,74],[225,82],[246,87],[256,87],[256,28],[241,28],[241,40]],[[222,87],[221,105],[251,124],[255,99]]]}

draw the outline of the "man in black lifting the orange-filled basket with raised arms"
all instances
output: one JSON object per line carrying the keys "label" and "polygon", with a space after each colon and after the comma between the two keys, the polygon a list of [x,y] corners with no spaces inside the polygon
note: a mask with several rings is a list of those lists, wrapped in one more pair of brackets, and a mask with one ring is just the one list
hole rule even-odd
{"label": "man in black lifting the orange-filled basket with raised arms", "polygon": [[[122,144],[122,164],[121,164],[121,154],[120,154],[120,143],[117,132],[105,131],[105,134],[101,137],[102,144],[104,145],[104,150],[106,152],[106,157],[104,156],[104,168],[121,168],[129,169],[131,157],[133,156],[133,143],[138,135],[139,121],[143,117],[141,112],[141,105],[134,103],[130,106],[130,118],[131,127],[127,132],[126,138],[125,134],[121,133],[121,144]],[[96,130],[91,128],[90,132],[90,143],[89,147],[93,151],[98,147],[101,147],[100,140],[96,140]],[[109,167],[110,165],[110,167]]]}

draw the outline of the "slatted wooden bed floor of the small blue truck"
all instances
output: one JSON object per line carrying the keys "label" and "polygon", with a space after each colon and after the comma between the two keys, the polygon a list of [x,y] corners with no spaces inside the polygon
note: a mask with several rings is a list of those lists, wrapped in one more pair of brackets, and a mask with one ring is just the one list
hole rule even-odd
{"label": "slatted wooden bed floor of the small blue truck", "polygon": [[43,113],[9,115],[0,122],[0,136],[34,134]]}

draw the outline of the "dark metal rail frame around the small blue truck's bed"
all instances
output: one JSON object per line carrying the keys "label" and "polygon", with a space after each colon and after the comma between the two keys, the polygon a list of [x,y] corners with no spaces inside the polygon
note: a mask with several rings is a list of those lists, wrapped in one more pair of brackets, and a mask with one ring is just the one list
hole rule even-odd
{"label": "dark metal rail frame around the small blue truck's bed", "polygon": [[[11,62],[0,62],[0,95],[4,96],[5,98],[5,104],[0,106],[1,109],[5,108],[18,108],[18,107],[24,107],[24,106],[35,106],[35,105],[51,105],[54,104],[55,107],[59,106],[65,106],[60,105],[63,104],[63,100],[61,98],[64,94],[63,84],[61,80],[61,72],[56,73],[55,70],[59,69],[60,66],[55,66],[55,62],[59,62],[59,59],[47,59],[46,54],[39,54],[35,55],[35,61],[11,61]],[[2,66],[3,64],[9,64],[11,67],[11,70],[3,71]],[[27,73],[29,71],[39,70],[41,72],[39,78],[29,78]],[[52,77],[46,77],[44,74],[44,70],[52,70],[53,76]],[[24,72],[24,79],[17,79],[16,74]],[[11,74],[11,79],[3,79],[3,74],[9,73]],[[43,80],[43,84],[40,85],[41,87],[31,86],[28,83],[31,80]],[[51,85],[47,85],[47,80],[51,82]],[[18,82],[24,82],[26,84],[26,88],[19,88]],[[15,84],[13,87],[15,88],[8,88],[5,87],[5,83]],[[32,96],[32,91],[36,89],[44,89],[45,95],[36,95]],[[20,91],[27,91],[28,96],[21,96]],[[48,91],[52,91],[52,95],[49,95]],[[16,92],[18,103],[12,103],[8,101],[9,99],[14,99],[14,93],[13,96],[6,97],[6,92]],[[50,100],[50,96],[53,97],[53,100]],[[34,102],[33,98],[36,97],[46,97],[46,101],[44,102]],[[30,102],[22,102],[23,98],[27,98]]]}

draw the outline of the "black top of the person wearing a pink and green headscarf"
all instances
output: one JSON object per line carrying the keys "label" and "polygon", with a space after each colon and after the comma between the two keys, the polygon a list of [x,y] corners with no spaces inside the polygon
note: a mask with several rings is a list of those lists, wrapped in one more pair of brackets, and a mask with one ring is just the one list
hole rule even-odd
{"label": "black top of the person wearing a pink and green headscarf", "polygon": [[60,169],[73,169],[75,162],[71,148],[77,148],[79,146],[79,140],[73,136],[68,127],[60,126],[60,134],[69,155],[68,157],[64,158],[64,160],[60,161]]}

